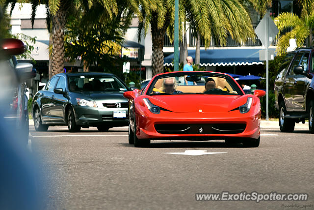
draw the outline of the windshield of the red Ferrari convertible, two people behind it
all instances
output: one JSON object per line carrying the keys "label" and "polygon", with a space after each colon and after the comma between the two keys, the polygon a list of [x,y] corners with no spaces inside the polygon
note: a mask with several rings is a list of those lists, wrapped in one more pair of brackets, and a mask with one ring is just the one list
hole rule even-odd
{"label": "windshield of the red Ferrari convertible, two people behind it", "polygon": [[174,72],[157,76],[147,94],[243,95],[228,75],[210,72]]}

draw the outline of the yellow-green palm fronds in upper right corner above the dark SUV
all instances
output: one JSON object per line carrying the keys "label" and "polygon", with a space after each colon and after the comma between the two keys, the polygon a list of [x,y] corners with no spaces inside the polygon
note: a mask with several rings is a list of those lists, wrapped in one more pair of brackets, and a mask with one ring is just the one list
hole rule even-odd
{"label": "yellow-green palm fronds in upper right corner above the dark SUV", "polygon": [[[306,39],[306,46],[313,46],[314,1],[298,0],[297,2],[301,7],[301,17],[290,12],[284,12],[275,18],[275,24],[280,35],[276,50],[278,55],[287,52],[291,38],[296,40],[297,47],[302,47]],[[289,29],[291,30],[285,33]]]}

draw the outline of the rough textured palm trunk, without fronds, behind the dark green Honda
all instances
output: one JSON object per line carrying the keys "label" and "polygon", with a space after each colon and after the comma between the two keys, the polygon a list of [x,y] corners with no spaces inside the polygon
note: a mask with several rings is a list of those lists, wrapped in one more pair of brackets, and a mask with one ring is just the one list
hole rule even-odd
{"label": "rough textured palm trunk, without fronds, behind the dark green Honda", "polygon": [[60,6],[52,16],[52,76],[64,72],[64,27],[66,24],[66,10]]}

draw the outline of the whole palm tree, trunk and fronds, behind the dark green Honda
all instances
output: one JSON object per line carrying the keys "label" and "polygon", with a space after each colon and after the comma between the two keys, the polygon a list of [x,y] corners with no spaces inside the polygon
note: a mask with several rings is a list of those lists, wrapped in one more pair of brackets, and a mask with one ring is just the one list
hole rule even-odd
{"label": "whole palm tree, trunk and fronds, behind the dark green Honda", "polygon": [[[4,7],[6,8],[9,3],[11,3],[12,12],[12,9],[14,8],[16,3],[23,2],[26,1],[6,0]],[[49,60],[52,66],[52,76],[58,73],[62,73],[64,71],[64,31],[69,14],[73,13],[77,8],[86,11],[98,11],[86,15],[86,17],[90,17],[92,20],[94,20],[94,18],[99,19],[101,18],[101,16],[112,18],[118,12],[118,4],[116,0],[29,0],[29,2],[32,5],[32,25],[34,24],[37,6],[39,4],[46,5],[46,22],[48,30],[51,29],[52,36],[52,54]],[[134,2],[131,2],[130,4],[132,6],[131,8],[136,8]],[[88,24],[86,26],[88,26]]]}

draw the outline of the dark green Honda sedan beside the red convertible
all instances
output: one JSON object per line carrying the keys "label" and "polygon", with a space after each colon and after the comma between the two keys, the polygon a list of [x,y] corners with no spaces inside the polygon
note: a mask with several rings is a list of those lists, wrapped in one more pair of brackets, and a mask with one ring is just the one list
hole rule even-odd
{"label": "dark green Honda sedan beside the red convertible", "polygon": [[95,126],[99,131],[128,125],[130,90],[113,74],[62,73],[54,75],[33,99],[34,126],[46,131],[49,126],[68,125],[70,132]]}

